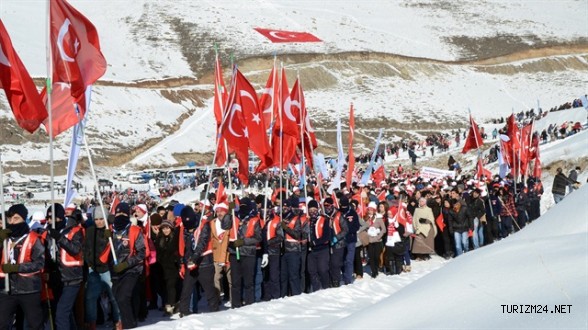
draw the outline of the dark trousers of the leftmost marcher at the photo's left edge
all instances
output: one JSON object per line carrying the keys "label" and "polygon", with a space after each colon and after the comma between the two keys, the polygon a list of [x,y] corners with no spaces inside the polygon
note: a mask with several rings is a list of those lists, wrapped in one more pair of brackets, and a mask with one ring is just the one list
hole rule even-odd
{"label": "dark trousers of the leftmost marcher at the photo's left edge", "polygon": [[0,328],[10,329],[16,309],[23,310],[29,329],[43,329],[43,309],[41,308],[41,293],[7,295],[0,293]]}

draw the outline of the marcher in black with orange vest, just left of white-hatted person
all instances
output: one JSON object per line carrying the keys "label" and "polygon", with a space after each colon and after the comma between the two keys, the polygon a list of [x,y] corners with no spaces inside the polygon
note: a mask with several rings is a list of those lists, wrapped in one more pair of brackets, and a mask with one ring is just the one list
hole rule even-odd
{"label": "marcher in black with orange vest, just left of white-hatted person", "polygon": [[49,235],[57,244],[62,285],[55,313],[55,325],[57,329],[76,329],[72,312],[84,276],[84,232],[72,216],[66,219],[55,217],[55,228],[49,227]]}

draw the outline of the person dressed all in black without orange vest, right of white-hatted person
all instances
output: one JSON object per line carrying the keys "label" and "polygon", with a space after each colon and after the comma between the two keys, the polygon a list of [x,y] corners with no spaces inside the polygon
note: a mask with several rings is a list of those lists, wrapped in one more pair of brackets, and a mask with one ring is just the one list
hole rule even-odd
{"label": "person dressed all in black without orange vest, right of white-hatted person", "polygon": [[177,302],[176,290],[180,279],[180,253],[179,253],[179,230],[176,230],[173,222],[164,220],[159,227],[154,227],[155,249],[157,251],[157,262],[161,265],[163,274],[163,285],[165,287],[164,316],[171,316],[174,305]]}

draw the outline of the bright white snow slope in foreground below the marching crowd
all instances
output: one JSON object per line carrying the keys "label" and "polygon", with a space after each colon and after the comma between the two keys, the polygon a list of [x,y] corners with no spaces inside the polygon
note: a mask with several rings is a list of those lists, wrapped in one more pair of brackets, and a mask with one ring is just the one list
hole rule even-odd
{"label": "bright white snow slope in foreground below the marching crowd", "polygon": [[[449,261],[413,262],[410,273],[173,321],[152,312],[141,328],[585,329],[586,200],[583,187],[506,239]],[[512,305],[541,306],[543,313],[504,312]],[[552,312],[562,305],[565,314]]]}

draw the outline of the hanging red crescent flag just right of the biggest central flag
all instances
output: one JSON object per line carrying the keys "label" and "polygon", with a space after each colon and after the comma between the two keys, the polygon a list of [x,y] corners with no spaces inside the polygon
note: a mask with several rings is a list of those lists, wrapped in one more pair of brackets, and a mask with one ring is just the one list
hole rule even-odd
{"label": "hanging red crescent flag just right of the biggest central flag", "polygon": [[[272,149],[274,166],[278,166],[283,170],[296,153],[296,146],[300,141],[300,132],[296,123],[297,115],[292,113],[292,99],[290,98],[290,90],[288,89],[288,80],[286,79],[286,70],[284,68],[282,68],[280,85],[280,111],[278,114],[279,118],[276,120],[272,132]],[[281,143],[280,140],[282,140]],[[282,154],[281,161],[280,148]]]}

